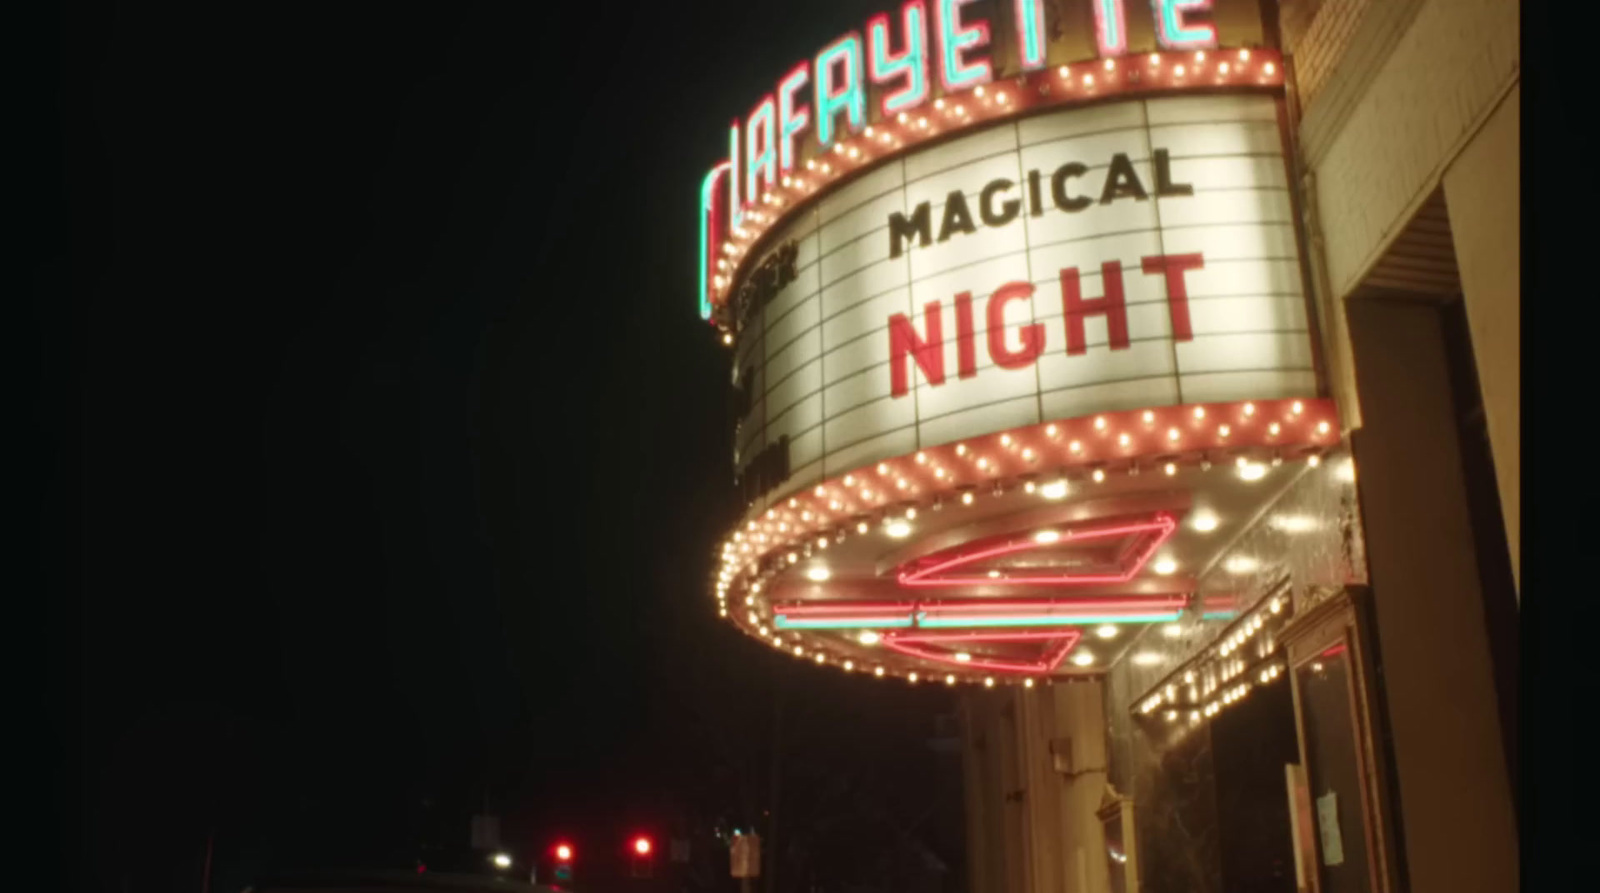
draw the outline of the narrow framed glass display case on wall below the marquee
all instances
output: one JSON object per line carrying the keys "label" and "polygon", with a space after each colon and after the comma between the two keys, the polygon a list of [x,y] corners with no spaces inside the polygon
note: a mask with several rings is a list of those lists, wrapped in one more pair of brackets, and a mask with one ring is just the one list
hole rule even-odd
{"label": "narrow framed glass display case on wall below the marquee", "polygon": [[1339,642],[1296,669],[1320,893],[1371,890],[1362,731],[1350,651]]}

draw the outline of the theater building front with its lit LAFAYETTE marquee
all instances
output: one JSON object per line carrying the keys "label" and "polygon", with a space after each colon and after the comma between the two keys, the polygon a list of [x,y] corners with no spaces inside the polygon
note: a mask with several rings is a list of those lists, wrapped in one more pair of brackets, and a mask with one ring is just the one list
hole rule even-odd
{"label": "theater building front with its lit LAFAYETTE marquee", "polygon": [[914,0],[736,120],[717,610],[966,691],[973,893],[1517,887],[1518,14]]}

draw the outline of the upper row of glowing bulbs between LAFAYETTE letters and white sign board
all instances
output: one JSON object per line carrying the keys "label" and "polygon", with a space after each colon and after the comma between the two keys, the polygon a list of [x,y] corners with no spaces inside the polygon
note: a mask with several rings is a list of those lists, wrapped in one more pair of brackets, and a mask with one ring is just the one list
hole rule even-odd
{"label": "upper row of glowing bulbs between LAFAYETTE letters and white sign board", "polygon": [[[1171,56],[1178,54],[1174,53]],[[1168,56],[1163,56],[1160,53],[1150,53],[1146,58],[1146,67],[1150,72],[1160,72],[1166,59]],[[1221,53],[1218,56],[1218,64],[1213,69],[1216,72],[1214,83],[1222,83],[1224,80],[1234,80],[1238,78],[1240,75],[1245,75],[1250,66],[1250,59],[1251,59],[1250,50]],[[1208,64],[1208,56],[1203,50],[1195,51],[1194,56],[1184,56],[1182,61],[1174,59],[1173,67],[1170,69],[1174,82],[1170,85],[1186,83],[1190,72],[1198,78],[1206,64]],[[1128,62],[1123,62],[1120,59],[1104,59],[1099,64],[1101,69],[1099,77],[1104,77],[1107,82],[1115,80],[1118,69],[1123,67],[1130,70],[1128,77],[1130,83],[1138,83],[1139,80],[1142,80],[1139,64],[1134,59],[1130,59]],[[1272,78],[1277,75],[1278,69],[1272,59],[1266,59],[1261,61],[1256,70],[1262,78]],[[1051,91],[1051,83],[1046,78],[1048,75],[1045,72],[1021,75],[1016,78],[1018,90],[1026,90],[1026,86],[1032,82],[1034,85],[1037,85],[1038,94],[1046,96]],[[1077,70],[1074,70],[1072,66],[1061,66],[1059,69],[1056,69],[1056,82],[1066,90],[1072,90],[1074,85],[1080,85],[1085,91],[1091,94],[1096,93],[1098,90],[1096,72],[1093,64],[1082,64],[1078,66]],[[1200,86],[1198,82],[1192,83],[1195,83],[1195,86]],[[968,123],[970,118],[973,118],[973,110],[978,110],[979,117],[982,117],[986,114],[1006,114],[1011,112],[1014,107],[1013,96],[1005,88],[979,85],[971,90],[971,96],[973,99],[960,99],[957,96],[934,99],[933,101],[933,110],[936,112],[934,117],[942,115],[954,126],[963,126],[965,123]],[[781,189],[770,189],[768,192],[763,192],[757,198],[757,202],[768,208],[778,208],[778,211],[763,211],[762,208],[750,208],[749,211],[746,211],[746,218],[754,222],[752,226],[736,227],[730,234],[733,235],[733,240],[723,243],[722,251],[723,254],[726,254],[726,258],[718,261],[720,272],[712,278],[714,291],[718,296],[725,296],[728,288],[731,288],[733,280],[736,278],[734,267],[738,264],[738,259],[771,226],[778,224],[784,218],[784,214],[781,213],[782,208],[790,205],[798,205],[798,200],[802,197],[816,192],[818,189],[827,186],[837,176],[845,174],[850,170],[850,165],[859,168],[861,165],[872,162],[874,150],[878,150],[880,152],[878,157],[883,157],[883,154],[893,154],[904,149],[907,142],[915,144],[930,139],[941,131],[939,123],[930,122],[928,115],[912,115],[910,112],[899,112],[894,117],[894,125],[898,125],[899,133],[896,133],[896,128],[888,125],[875,125],[875,126],[867,125],[859,138],[850,138],[835,142],[832,150],[834,154],[832,158],[829,158],[827,155],[824,155],[822,158],[808,158],[805,166],[810,176],[784,174],[782,179],[779,181]],[[792,195],[786,198],[782,190],[789,190]],[[731,331],[723,330],[723,342],[733,344]]]}

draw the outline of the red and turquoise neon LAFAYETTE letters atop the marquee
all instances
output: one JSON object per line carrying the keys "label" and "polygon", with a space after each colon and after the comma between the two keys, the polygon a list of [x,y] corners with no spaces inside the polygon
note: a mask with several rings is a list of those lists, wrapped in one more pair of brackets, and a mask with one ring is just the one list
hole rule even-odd
{"label": "red and turquoise neon LAFAYETTE letters atop the marquee", "polygon": [[[742,120],[728,128],[728,160],[706,176],[701,190],[701,315],[712,315],[712,282],[718,275],[718,226],[738,230],[757,197],[798,170],[798,142],[808,131],[826,150],[842,134],[867,126],[867,90],[880,91],[880,112],[891,117],[922,107],[938,77],[946,94],[995,78],[989,58],[990,26],[966,6],[971,0],[907,0],[899,16],[867,21],[866,37],[851,30],[814,59],[786,72]],[[1091,0],[1096,45],[1104,58],[1128,51],[1126,0]],[[1013,0],[1018,61],[1024,72],[1046,64],[1045,3]],[[1168,50],[1216,46],[1206,21],[1211,0],[1150,0],[1157,40]],[[718,189],[720,184],[720,189]],[[722,221],[717,194],[722,192]]]}

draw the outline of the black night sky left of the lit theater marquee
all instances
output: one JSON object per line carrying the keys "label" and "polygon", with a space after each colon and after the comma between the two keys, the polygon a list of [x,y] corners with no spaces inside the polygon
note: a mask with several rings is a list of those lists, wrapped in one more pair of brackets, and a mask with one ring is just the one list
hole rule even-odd
{"label": "black night sky left of the lit theater marquee", "polygon": [[198,888],[206,829],[219,890],[410,864],[485,789],[514,845],[656,823],[707,754],[765,759],[774,685],[824,770],[930,778],[942,695],[773,661],[706,589],[738,507],[699,178],[875,11],[774,8],[38,30],[46,744],[83,888]]}

